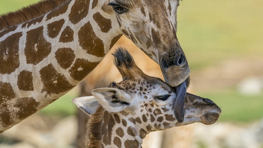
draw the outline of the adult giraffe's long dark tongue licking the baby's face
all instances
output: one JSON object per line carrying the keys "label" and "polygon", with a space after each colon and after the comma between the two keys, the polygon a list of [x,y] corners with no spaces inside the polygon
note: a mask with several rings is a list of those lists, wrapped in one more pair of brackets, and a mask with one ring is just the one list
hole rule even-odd
{"label": "adult giraffe's long dark tongue licking the baby's face", "polygon": [[185,81],[179,86],[175,87],[176,99],[174,103],[174,115],[179,123],[184,121],[184,101],[186,96],[186,83]]}

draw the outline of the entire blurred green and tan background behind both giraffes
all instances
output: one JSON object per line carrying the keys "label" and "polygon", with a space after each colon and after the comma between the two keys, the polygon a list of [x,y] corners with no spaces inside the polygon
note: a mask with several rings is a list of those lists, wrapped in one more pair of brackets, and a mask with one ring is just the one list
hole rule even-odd
{"label": "entire blurred green and tan background behind both giraffes", "polygon": [[[0,0],[0,15],[37,1]],[[210,126],[194,123],[153,132],[143,147],[263,148],[263,1],[185,0],[177,16],[177,37],[191,68],[188,92],[212,99],[222,115]],[[160,67],[126,37],[110,52],[120,46],[146,74],[162,78]],[[81,85],[2,133],[0,147],[76,147],[85,125],[78,122],[82,115],[71,99],[110,81],[120,82],[121,76],[108,54]]]}

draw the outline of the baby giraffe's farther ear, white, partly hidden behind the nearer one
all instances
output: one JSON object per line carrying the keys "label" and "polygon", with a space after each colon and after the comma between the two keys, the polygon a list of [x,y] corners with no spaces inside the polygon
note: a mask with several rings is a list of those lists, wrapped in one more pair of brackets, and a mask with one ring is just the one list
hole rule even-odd
{"label": "baby giraffe's farther ear, white, partly hidden behind the nearer one", "polygon": [[79,109],[84,111],[86,114],[91,115],[96,112],[100,106],[99,102],[94,96],[89,97],[79,97],[71,100],[77,105]]}

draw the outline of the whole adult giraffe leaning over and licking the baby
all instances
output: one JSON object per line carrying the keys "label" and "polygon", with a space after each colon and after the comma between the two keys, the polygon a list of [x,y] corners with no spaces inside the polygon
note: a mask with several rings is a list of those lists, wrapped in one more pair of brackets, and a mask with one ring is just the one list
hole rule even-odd
{"label": "whole adult giraffe leaning over and licking the baby", "polygon": [[190,70],[176,36],[177,6],[179,0],[45,0],[1,16],[0,133],[75,87],[122,34],[185,92]]}

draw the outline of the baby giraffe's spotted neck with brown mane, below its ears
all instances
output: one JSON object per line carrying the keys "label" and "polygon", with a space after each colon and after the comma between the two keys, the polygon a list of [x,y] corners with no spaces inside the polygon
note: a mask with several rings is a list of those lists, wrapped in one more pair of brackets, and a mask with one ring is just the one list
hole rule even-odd
{"label": "baby giraffe's spotted neck with brown mane, below its ears", "polygon": [[86,147],[141,148],[139,130],[134,127],[135,125],[122,114],[109,113],[99,107],[87,123]]}

